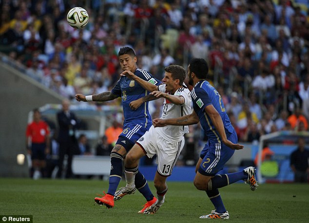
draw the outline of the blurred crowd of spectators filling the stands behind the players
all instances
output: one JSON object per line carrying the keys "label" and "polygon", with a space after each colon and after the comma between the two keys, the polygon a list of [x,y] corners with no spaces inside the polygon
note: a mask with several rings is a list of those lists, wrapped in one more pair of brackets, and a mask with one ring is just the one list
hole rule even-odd
{"label": "blurred crowd of spectators filling the stands behind the players", "polygon": [[[66,21],[75,6],[90,15],[83,29]],[[242,142],[308,130],[308,1],[1,0],[0,7],[1,52],[70,100],[111,90],[122,72],[117,52],[127,45],[157,79],[170,64],[205,58]],[[161,109],[154,111],[153,118]]]}

